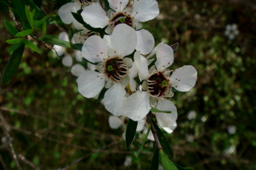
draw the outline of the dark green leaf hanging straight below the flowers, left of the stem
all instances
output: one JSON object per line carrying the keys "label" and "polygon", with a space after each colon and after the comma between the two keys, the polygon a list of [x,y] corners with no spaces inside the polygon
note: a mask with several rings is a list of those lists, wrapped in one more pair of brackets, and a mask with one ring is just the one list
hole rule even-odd
{"label": "dark green leaf hanging straight below the flowers, left of the stem", "polygon": [[133,121],[131,119],[128,120],[126,132],[125,132],[126,148],[129,148],[129,146],[132,144],[132,141],[136,134],[137,125],[138,125],[138,121]]}

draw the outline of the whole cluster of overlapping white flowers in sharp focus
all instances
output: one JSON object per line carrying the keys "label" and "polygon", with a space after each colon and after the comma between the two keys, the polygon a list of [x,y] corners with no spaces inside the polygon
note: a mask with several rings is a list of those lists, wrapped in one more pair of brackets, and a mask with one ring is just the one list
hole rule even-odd
{"label": "whole cluster of overlapping white flowers in sharp focus", "polygon": [[[113,128],[129,118],[139,121],[138,131],[143,131],[145,117],[152,111],[158,125],[172,133],[177,126],[172,89],[189,91],[195,86],[197,72],[191,65],[173,69],[172,47],[165,43],[155,45],[154,36],[141,29],[140,22],[159,14],[156,0],[108,0],[108,3],[108,11],[95,1],[76,1],[59,10],[65,24],[73,23],[82,30],[73,36],[73,41],[83,43],[80,55],[91,63],[86,70],[79,67],[83,72],[76,74],[78,91],[86,98],[104,96],[102,103],[106,109],[114,116],[121,116],[109,118]],[[104,35],[85,29],[71,12],[81,13],[86,24],[104,30]]]}

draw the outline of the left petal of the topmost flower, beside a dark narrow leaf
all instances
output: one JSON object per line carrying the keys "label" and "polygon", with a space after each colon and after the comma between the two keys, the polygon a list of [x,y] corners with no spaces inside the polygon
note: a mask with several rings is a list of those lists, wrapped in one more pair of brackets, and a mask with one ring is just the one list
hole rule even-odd
{"label": "left petal of the topmost flower, beside a dark narrow leaf", "polygon": [[92,27],[104,28],[108,26],[109,18],[105,10],[102,9],[99,3],[92,3],[86,6],[81,13],[84,22]]}

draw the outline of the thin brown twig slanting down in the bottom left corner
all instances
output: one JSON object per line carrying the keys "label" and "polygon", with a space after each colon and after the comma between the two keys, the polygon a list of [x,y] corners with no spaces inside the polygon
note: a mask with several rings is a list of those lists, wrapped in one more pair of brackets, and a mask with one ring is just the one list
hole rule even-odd
{"label": "thin brown twig slanting down in the bottom left corner", "polygon": [[[6,137],[8,137],[8,139],[10,139],[11,138],[11,136],[9,134],[10,128],[8,127],[8,124],[6,123],[6,120],[4,119],[2,112],[0,112],[0,118],[1,118],[1,121],[3,122],[2,128],[3,128],[4,135]],[[15,161],[15,164],[17,165],[17,169],[21,170],[22,168],[20,167],[17,154],[15,153],[15,150],[13,149],[12,141],[8,140],[8,143],[6,143],[6,145],[8,146],[8,150],[10,151],[10,153]]]}

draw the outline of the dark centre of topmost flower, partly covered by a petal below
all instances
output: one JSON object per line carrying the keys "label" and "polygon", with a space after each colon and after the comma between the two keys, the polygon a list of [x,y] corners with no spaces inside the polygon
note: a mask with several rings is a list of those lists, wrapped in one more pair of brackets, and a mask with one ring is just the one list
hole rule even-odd
{"label": "dark centre of topmost flower, partly covered by a petal below", "polygon": [[112,17],[110,23],[113,28],[118,24],[127,24],[128,26],[132,27],[132,17],[129,14],[126,15],[124,13],[118,12]]}

